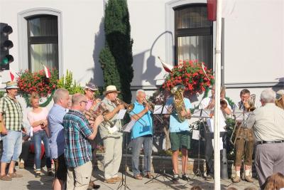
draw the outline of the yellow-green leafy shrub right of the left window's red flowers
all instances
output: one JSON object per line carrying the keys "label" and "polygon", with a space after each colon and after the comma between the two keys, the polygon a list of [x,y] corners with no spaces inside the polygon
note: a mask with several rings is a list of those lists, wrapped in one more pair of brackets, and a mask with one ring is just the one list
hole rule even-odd
{"label": "yellow-green leafy shrub right of the left window's red flowers", "polygon": [[58,88],[65,88],[69,91],[70,95],[84,93],[84,89],[80,85],[77,85],[75,80],[73,83],[73,74],[69,70],[66,71],[66,75],[63,75],[62,78],[58,80]]}

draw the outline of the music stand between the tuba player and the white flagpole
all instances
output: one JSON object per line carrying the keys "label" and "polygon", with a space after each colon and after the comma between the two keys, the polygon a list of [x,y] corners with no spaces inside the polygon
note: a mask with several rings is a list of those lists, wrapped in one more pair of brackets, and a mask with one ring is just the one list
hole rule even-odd
{"label": "music stand between the tuba player and the white flagpole", "polygon": [[197,170],[196,170],[195,176],[202,176],[202,173],[200,171],[200,139],[201,139],[200,129],[201,129],[201,124],[203,125],[205,129],[203,120],[210,118],[210,112],[211,110],[195,109],[195,112],[191,116],[191,117],[198,117],[200,121],[199,138],[198,138],[198,154],[197,154]]}

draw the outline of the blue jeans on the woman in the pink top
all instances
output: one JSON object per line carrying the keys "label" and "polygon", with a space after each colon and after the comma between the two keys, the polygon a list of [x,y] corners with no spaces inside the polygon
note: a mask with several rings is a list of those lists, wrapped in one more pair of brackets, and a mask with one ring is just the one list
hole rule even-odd
{"label": "blue jeans on the woman in the pink top", "polygon": [[35,146],[35,170],[40,170],[41,141],[43,141],[45,147],[46,167],[51,168],[48,136],[46,135],[45,130],[40,130],[33,133],[33,144]]}

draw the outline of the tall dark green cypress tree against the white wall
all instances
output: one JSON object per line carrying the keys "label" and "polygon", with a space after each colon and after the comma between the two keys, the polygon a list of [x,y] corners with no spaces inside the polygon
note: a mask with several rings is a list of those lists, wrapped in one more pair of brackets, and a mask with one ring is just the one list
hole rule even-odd
{"label": "tall dark green cypress tree against the white wall", "polygon": [[[126,0],[109,0],[105,10],[104,31],[106,34],[106,48],[110,51],[112,60],[104,60],[103,70],[107,70],[106,65],[111,64],[111,70],[118,70],[121,95],[125,102],[131,102],[131,81],[133,79],[133,58],[132,44],[133,40],[130,36],[129,11]],[[102,50],[104,54],[107,51]],[[101,53],[102,53],[101,52]],[[105,55],[104,55],[105,56]],[[109,55],[107,55],[109,56]],[[101,60],[102,57],[101,56]],[[101,62],[100,60],[100,62]],[[102,63],[102,62],[101,62]],[[112,75],[112,77],[116,77]],[[109,81],[109,76],[104,76],[104,80]],[[114,84],[112,84],[114,85]],[[107,86],[107,84],[105,84]],[[117,86],[116,86],[117,87]]]}

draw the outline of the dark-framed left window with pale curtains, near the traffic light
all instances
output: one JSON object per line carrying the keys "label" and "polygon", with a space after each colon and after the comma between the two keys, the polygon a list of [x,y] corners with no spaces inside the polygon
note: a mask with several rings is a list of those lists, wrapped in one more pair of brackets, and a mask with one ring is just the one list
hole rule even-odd
{"label": "dark-framed left window with pale curtains, near the traffic light", "polygon": [[58,68],[58,16],[36,15],[26,18],[28,29],[28,69],[32,72]]}

